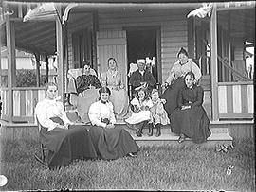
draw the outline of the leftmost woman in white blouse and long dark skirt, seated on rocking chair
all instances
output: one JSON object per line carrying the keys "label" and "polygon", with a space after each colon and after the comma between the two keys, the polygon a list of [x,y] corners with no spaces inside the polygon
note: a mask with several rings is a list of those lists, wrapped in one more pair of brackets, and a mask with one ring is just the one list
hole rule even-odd
{"label": "leftmost woman in white blouse and long dark skirt, seated on rocking chair", "polygon": [[57,85],[46,84],[46,98],[37,103],[35,115],[40,124],[40,139],[48,149],[49,168],[67,166],[74,159],[97,158],[97,152],[86,128],[73,125],[66,117],[64,105],[56,101]]}

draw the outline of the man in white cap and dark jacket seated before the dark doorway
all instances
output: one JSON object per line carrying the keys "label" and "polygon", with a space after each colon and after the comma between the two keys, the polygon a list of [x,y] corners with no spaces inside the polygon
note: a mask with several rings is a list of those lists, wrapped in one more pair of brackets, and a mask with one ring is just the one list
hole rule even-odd
{"label": "man in white cap and dark jacket seated before the dark doorway", "polygon": [[137,60],[137,71],[130,78],[132,85],[132,93],[140,88],[152,89],[155,87],[156,80],[150,70],[146,70],[146,61],[144,59]]}

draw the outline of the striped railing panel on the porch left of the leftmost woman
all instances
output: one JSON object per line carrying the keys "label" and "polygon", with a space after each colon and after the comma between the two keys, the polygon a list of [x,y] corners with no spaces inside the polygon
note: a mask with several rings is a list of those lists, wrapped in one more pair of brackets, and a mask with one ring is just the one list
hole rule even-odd
{"label": "striped railing panel on the porch left of the leftmost woman", "polygon": [[45,98],[44,88],[13,88],[14,119],[32,119],[37,102]]}

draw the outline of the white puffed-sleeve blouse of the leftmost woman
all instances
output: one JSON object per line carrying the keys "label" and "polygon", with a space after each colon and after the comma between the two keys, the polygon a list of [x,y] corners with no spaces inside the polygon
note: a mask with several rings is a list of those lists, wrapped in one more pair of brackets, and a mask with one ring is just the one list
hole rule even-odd
{"label": "white puffed-sleeve blouse of the leftmost woman", "polygon": [[64,124],[73,124],[64,112],[63,103],[56,100],[45,98],[37,103],[35,115],[40,125],[47,128],[47,131],[51,131],[59,125],[58,123],[53,122],[50,119],[51,117],[60,117],[64,121]]}

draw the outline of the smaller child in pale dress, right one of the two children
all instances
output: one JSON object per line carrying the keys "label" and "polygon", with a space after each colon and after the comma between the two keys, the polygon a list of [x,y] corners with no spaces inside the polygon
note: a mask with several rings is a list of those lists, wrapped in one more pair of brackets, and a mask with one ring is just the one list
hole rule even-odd
{"label": "smaller child in pale dress, right one of the two children", "polygon": [[[151,100],[153,102],[153,107],[150,108],[150,111],[153,116],[153,124],[156,128],[155,136],[158,137],[161,135],[161,126],[170,124],[170,120],[168,118],[168,114],[164,110],[163,104],[165,104],[166,100],[159,98],[159,92],[157,89],[153,89],[151,92]],[[149,128],[149,136],[153,135],[153,127]]]}

